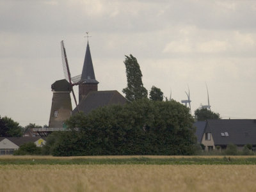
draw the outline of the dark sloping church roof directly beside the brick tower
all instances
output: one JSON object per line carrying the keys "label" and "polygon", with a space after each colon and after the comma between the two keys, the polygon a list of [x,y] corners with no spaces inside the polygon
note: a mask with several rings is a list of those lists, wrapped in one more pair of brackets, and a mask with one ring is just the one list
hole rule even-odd
{"label": "dark sloping church roof directly beside the brick tower", "polygon": [[[90,113],[93,109],[109,106],[112,104],[125,104],[126,99],[118,91],[97,91],[89,92],[81,102],[79,102],[79,111],[83,111],[85,114]],[[74,109],[72,115],[77,113],[77,108]]]}

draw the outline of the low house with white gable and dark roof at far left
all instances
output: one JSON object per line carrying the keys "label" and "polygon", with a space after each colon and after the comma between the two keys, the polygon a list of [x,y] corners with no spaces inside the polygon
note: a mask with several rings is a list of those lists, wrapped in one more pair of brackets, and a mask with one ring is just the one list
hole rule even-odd
{"label": "low house with white gable and dark roof at far left", "polygon": [[13,154],[14,150],[18,150],[20,145],[33,142],[36,147],[45,145],[45,139],[41,137],[20,137],[20,138],[4,138],[0,137],[0,155]]}

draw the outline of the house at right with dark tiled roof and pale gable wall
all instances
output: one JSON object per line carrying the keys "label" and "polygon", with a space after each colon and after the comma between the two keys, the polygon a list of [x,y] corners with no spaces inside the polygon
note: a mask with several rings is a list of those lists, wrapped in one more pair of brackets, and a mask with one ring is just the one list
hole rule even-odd
{"label": "house at right with dark tiled roof and pale gable wall", "polygon": [[[203,126],[204,127],[204,126]],[[202,132],[203,127],[200,127]],[[244,145],[256,148],[256,120],[252,119],[220,119],[207,120],[200,143],[205,145],[205,150],[214,150],[217,146],[221,149],[233,143],[238,149]]]}

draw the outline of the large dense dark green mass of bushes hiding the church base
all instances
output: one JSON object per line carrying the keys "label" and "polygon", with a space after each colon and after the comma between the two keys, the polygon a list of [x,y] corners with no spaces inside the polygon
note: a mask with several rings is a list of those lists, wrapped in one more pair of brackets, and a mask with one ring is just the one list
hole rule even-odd
{"label": "large dense dark green mass of bushes hiding the church base", "polygon": [[189,109],[174,100],[136,100],[124,106],[77,113],[67,121],[80,131],[63,132],[54,156],[189,155],[196,138]]}

